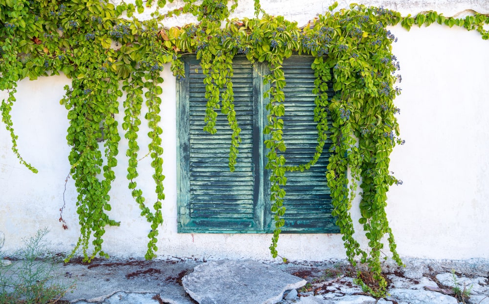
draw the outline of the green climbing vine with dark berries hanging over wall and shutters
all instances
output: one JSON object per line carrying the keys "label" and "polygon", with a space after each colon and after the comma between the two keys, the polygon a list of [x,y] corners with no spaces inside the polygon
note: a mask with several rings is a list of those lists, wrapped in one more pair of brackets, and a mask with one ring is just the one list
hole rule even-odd
{"label": "green climbing vine with dark berries hanging over wall and shutters", "polygon": [[[402,183],[389,171],[389,155],[394,146],[404,143],[395,116],[400,109],[393,103],[400,94],[396,82],[401,80],[400,63],[391,52],[391,44],[397,38],[386,27],[400,23],[409,30],[414,25],[436,22],[476,30],[487,40],[489,33],[484,25],[489,18],[475,12],[465,19],[436,12],[401,17],[398,12],[363,5],[338,10],[335,3],[324,15],[298,27],[283,17],[267,15],[259,0],[254,1],[255,17],[240,20],[228,19],[238,5],[237,0],[184,0],[183,7],[170,11],[166,4],[165,0],[145,3],[136,0],[135,4],[122,1],[119,5],[107,0],[4,0],[0,4],[0,89],[8,91],[8,98],[0,107],[2,122],[11,135],[13,152],[34,173],[37,170],[22,159],[17,149],[10,115],[17,82],[59,73],[71,79],[61,104],[68,110],[67,143],[71,147],[68,161],[78,191],[81,234],[67,259],[80,247],[86,261],[97,254],[107,256],[102,249],[105,228],[119,225],[106,211],[111,210],[109,192],[122,135],[128,140],[128,188],[141,216],[151,226],[145,257],[156,256],[164,200],[159,126],[164,80],[160,72],[164,64],[170,63],[177,80],[182,80],[183,54],[196,53],[205,76],[204,130],[217,132],[219,110],[227,117],[233,131],[229,139],[229,169],[234,171],[241,129],[234,105],[232,62],[234,56],[244,55],[251,62],[266,62],[269,71],[263,75],[268,84],[264,93],[268,101],[264,144],[268,149],[266,169],[270,171],[271,211],[275,220],[272,256],[278,255],[276,246],[285,223],[282,217],[287,210],[286,172],[309,170],[324,152],[327,134],[331,134],[331,157],[325,178],[331,189],[333,216],[343,235],[349,261],[367,266],[358,274],[358,283],[374,295],[383,295],[387,285],[380,268],[384,236],[387,235],[393,259],[402,264],[385,206],[389,187]],[[138,20],[136,12],[145,9],[153,10],[153,18]],[[196,16],[198,23],[165,28],[167,18],[180,14]],[[283,89],[287,82],[282,63],[293,53],[314,57],[313,116],[318,131],[316,153],[309,162],[297,166],[289,166],[281,155],[287,149],[282,139],[286,128],[282,119]],[[334,96],[327,93],[331,84]],[[119,133],[115,119],[121,99],[123,134]],[[141,160],[138,132],[143,116],[150,128],[147,156],[152,160],[156,192],[152,203],[146,201],[146,194],[136,182]],[[353,237],[350,209],[358,181],[361,181],[359,223],[369,241],[368,250],[361,248]],[[367,275],[377,284],[364,284],[362,278]]]}

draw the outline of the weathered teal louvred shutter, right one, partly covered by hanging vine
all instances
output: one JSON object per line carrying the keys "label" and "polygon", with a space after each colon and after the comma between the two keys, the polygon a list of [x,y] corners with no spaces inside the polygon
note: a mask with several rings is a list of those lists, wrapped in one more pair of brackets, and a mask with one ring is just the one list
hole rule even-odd
{"label": "weathered teal louvred shutter, right one, partly covered by hanging vine", "polygon": [[[314,71],[311,69],[312,57],[292,56],[284,61],[283,71],[287,85],[284,120],[284,141],[287,151],[283,153],[287,165],[309,162],[317,145],[316,122],[313,119]],[[330,85],[332,87],[332,85]],[[333,95],[333,90],[328,96]],[[330,189],[326,181],[326,167],[330,157],[326,142],[319,161],[304,172],[287,172],[287,192],[284,205],[284,232],[337,233],[339,228],[331,215]]]}

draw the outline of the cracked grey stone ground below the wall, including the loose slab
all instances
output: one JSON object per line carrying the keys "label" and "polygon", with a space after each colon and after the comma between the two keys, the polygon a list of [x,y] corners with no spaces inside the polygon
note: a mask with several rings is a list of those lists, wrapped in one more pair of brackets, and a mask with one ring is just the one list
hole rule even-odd
{"label": "cracked grey stone ground below the wall, including the loose slab", "polygon": [[[100,259],[87,264],[74,259],[58,264],[57,278],[76,284],[62,304],[489,304],[489,260],[404,263],[403,268],[383,265],[389,282],[384,299],[354,284],[355,272],[342,260]],[[454,286],[465,288],[470,298],[457,301]]]}

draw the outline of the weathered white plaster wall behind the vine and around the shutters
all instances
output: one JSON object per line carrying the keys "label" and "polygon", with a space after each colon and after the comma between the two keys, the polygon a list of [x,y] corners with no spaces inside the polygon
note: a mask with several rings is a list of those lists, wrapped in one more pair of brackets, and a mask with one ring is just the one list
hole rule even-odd
{"label": "weathered white plaster wall behind the vine and around the shutters", "polygon": [[[330,5],[330,1],[319,0],[262,2],[268,13],[285,15],[299,24]],[[489,11],[488,1],[413,4],[378,0],[366,4],[384,4],[404,15],[428,9],[444,12],[445,16],[470,8]],[[248,6],[241,16],[251,16],[252,1],[241,5]],[[391,188],[387,208],[399,253],[436,259],[489,258],[489,41],[483,41],[476,32],[439,25],[413,27],[410,32],[400,26],[391,30],[399,37],[393,51],[401,63],[403,81],[402,95],[395,102],[401,109],[401,136],[406,140],[392,153],[391,170],[403,185]],[[163,77],[161,126],[166,199],[158,254],[270,259],[270,235],[177,233],[176,83],[168,67]],[[51,230],[48,239],[53,251],[71,250],[79,236],[72,180],[67,182],[63,216],[69,229],[64,230],[58,222],[69,171],[67,110],[58,102],[66,84],[69,80],[64,76],[19,83],[18,101],[12,112],[14,128],[22,156],[39,169],[38,174],[19,164],[10,149],[8,133],[3,126],[0,128],[0,231],[5,235],[3,249],[7,252],[18,248],[22,237],[44,227]],[[121,114],[118,119],[122,119]],[[139,208],[127,189],[126,146],[123,139],[111,190],[110,215],[121,226],[107,229],[104,249],[115,256],[141,257],[150,227],[139,216]],[[140,155],[144,154],[143,148]],[[141,162],[138,182],[151,201],[150,169],[149,159]],[[357,216],[355,210],[353,213]],[[284,234],[279,253],[291,260],[322,260],[344,257],[344,248],[341,235]]]}

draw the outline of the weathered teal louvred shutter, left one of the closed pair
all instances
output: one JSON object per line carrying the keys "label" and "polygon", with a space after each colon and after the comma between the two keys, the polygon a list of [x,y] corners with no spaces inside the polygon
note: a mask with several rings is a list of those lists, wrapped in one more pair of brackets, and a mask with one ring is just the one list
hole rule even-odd
{"label": "weathered teal louvred shutter, left one of the closed pair", "polygon": [[[242,233],[261,228],[263,210],[257,207],[260,182],[255,177],[253,147],[257,117],[253,69],[245,58],[233,61],[234,103],[241,128],[234,172],[228,156],[232,131],[220,113],[217,134],[202,129],[206,108],[204,75],[195,57],[186,60],[186,77],[179,84],[178,101],[178,232]],[[256,90],[256,89],[255,89]],[[255,130],[254,130],[255,128]]]}

